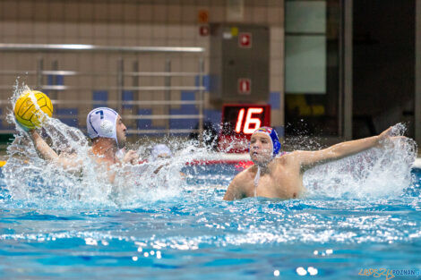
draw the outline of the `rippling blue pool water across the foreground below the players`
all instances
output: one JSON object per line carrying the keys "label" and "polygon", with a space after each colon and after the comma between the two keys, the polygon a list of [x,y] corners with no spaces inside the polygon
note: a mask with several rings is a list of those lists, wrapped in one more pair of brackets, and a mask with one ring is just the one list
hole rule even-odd
{"label": "rippling blue pool water across the foreground below the players", "polygon": [[419,169],[389,197],[229,202],[234,166],[183,171],[182,191],[133,208],[43,207],[11,199],[0,179],[0,278],[371,279],[358,273],[421,270]]}

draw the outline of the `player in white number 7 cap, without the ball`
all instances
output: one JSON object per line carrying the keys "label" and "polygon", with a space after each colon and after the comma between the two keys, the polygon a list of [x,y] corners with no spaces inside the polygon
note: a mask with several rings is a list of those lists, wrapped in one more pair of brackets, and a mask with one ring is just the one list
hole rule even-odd
{"label": "player in white number 7 cap, without the ball", "polygon": [[[133,150],[125,153],[121,161],[116,157],[116,152],[120,148],[124,148],[126,142],[126,127],[121,116],[116,111],[107,107],[93,109],[86,118],[86,125],[88,136],[92,140],[90,151],[95,156],[97,163],[106,165],[108,171],[111,165],[138,163],[139,156]],[[68,171],[80,170],[82,166],[81,157],[76,157],[74,154],[58,156],[56,151],[47,145],[46,141],[42,139],[38,132],[30,130],[29,134],[41,157],[62,165]],[[114,182],[114,176],[115,174],[108,172],[110,182]]]}

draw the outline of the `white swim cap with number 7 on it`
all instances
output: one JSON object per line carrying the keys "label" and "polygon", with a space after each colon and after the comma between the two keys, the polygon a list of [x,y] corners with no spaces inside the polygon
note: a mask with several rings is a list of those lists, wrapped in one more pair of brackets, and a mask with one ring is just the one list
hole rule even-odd
{"label": "white swim cap with number 7 on it", "polygon": [[116,140],[116,122],[118,114],[113,109],[107,107],[95,108],[86,117],[86,127],[90,139],[97,137],[106,137]]}

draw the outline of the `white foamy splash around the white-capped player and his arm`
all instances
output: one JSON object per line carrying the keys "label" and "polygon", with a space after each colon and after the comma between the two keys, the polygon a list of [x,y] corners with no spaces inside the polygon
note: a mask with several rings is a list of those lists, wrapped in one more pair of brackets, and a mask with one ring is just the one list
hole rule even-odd
{"label": "white foamy splash around the white-capped player and his arm", "polygon": [[[28,89],[24,85],[16,87],[12,108]],[[116,179],[111,184],[106,166],[98,165],[90,156],[89,140],[79,129],[46,116],[42,132],[39,130],[58,154],[73,155],[74,160],[82,162],[73,174],[39,157],[28,134],[15,123],[12,110],[7,120],[16,125],[17,133],[7,148],[7,164],[2,168],[6,189],[12,199],[38,207],[135,207],[145,201],[174,198],[184,183],[180,170],[185,160],[207,152],[190,143],[174,142],[173,146],[181,148],[177,157],[142,165],[112,166]]]}

